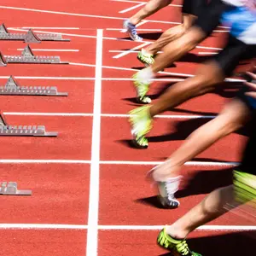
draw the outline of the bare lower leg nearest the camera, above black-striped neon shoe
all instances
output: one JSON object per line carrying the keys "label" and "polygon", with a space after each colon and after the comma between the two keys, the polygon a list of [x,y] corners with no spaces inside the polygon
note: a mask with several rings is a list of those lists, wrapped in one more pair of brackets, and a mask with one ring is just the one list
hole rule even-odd
{"label": "bare lower leg nearest the camera, above black-striped neon shoe", "polygon": [[176,239],[184,239],[197,227],[223,215],[225,204],[233,204],[233,185],[216,189],[197,206],[166,228],[167,234]]}

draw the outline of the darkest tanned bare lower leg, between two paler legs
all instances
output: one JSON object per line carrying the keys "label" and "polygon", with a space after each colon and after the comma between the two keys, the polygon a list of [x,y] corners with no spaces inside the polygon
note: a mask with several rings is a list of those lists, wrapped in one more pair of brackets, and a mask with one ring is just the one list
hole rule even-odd
{"label": "darkest tanned bare lower leg, between two paler legs", "polygon": [[202,65],[193,78],[172,85],[149,110],[151,117],[163,113],[169,108],[189,100],[192,97],[204,94],[224,80],[224,74],[215,61]]}

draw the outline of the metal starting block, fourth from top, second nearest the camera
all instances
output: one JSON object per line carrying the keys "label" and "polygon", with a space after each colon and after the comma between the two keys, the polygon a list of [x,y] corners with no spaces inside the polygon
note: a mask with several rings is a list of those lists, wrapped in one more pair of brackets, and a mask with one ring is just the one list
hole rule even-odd
{"label": "metal starting block, fourth from top, second nearest the camera", "polygon": [[0,114],[0,137],[57,137],[58,132],[45,131],[44,125],[8,125],[3,113]]}

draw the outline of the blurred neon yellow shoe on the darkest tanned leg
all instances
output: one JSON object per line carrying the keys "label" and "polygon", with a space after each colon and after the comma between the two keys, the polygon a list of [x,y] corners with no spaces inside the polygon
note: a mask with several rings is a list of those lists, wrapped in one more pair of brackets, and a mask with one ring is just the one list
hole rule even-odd
{"label": "blurred neon yellow shoe on the darkest tanned leg", "polygon": [[132,143],[136,148],[148,148],[148,139],[145,136],[153,126],[153,119],[148,112],[149,108],[150,106],[143,106],[129,112],[131,115],[129,122],[131,124],[131,135],[133,137]]}

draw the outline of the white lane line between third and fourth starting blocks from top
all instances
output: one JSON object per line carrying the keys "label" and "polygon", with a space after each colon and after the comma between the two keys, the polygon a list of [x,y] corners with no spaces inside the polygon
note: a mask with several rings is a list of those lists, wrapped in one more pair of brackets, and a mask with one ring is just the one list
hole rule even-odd
{"label": "white lane line between third and fourth starting blocks from top", "polygon": [[[41,112],[3,112],[5,115],[18,116],[66,116],[66,117],[93,117],[93,113],[41,113]],[[130,114],[123,113],[101,113],[102,117],[129,118]],[[160,119],[214,119],[216,115],[192,115],[192,114],[160,114],[155,118]]]}

